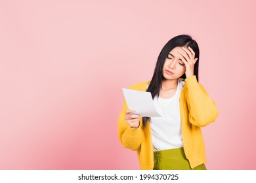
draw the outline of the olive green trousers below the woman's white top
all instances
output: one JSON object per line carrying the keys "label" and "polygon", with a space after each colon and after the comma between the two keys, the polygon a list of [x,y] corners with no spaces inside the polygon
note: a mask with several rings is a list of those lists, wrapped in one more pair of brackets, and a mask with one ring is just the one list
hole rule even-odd
{"label": "olive green trousers below the woman's white top", "polygon": [[190,168],[183,148],[154,152],[154,170],[206,170],[204,164]]}

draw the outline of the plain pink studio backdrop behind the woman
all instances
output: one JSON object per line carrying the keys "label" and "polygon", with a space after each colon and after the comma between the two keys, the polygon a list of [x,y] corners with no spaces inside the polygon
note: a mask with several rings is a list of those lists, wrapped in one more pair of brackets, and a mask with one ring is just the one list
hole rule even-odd
{"label": "plain pink studio backdrop behind the woman", "polygon": [[117,139],[121,88],[175,35],[200,45],[220,111],[208,169],[256,169],[255,13],[244,1],[0,1],[0,169],[139,169]]}

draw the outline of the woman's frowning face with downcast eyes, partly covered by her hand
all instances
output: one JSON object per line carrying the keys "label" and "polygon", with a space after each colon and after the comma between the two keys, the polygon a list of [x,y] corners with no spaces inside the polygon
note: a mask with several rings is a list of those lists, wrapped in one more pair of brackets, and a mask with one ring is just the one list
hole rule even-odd
{"label": "woman's frowning face with downcast eyes, partly covered by her hand", "polygon": [[169,52],[165,63],[163,64],[163,77],[167,80],[175,80],[180,78],[186,71],[186,66],[181,60],[181,54],[179,50],[182,51],[182,48],[177,46]]}

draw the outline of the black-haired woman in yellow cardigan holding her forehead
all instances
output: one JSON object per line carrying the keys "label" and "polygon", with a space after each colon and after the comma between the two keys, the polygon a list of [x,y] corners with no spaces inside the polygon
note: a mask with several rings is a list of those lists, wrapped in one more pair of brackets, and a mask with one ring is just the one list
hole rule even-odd
{"label": "black-haired woman in yellow cardigan holding her forehead", "polygon": [[198,83],[199,48],[189,35],[173,37],[160,52],[152,80],[130,87],[151,92],[162,117],[142,117],[124,102],[118,135],[137,150],[140,169],[206,169],[200,127],[215,122],[219,111]]}

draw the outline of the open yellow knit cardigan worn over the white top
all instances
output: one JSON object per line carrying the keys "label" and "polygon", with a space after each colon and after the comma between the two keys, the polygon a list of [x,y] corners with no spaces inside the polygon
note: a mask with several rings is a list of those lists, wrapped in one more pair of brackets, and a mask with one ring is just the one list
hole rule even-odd
{"label": "open yellow knit cardigan worn over the white top", "polygon": [[[129,88],[146,91],[146,86],[149,83],[150,81],[140,82]],[[142,118],[140,118],[139,128],[131,128],[125,121],[127,109],[127,104],[124,101],[118,120],[119,141],[125,148],[137,150],[140,169],[153,169],[154,154],[150,123],[148,122],[146,128],[143,128]],[[196,76],[190,76],[185,80],[180,96],[180,111],[183,148],[190,167],[193,169],[206,162],[205,146],[200,127],[215,122],[219,115],[214,101],[203,86],[198,84]]]}

